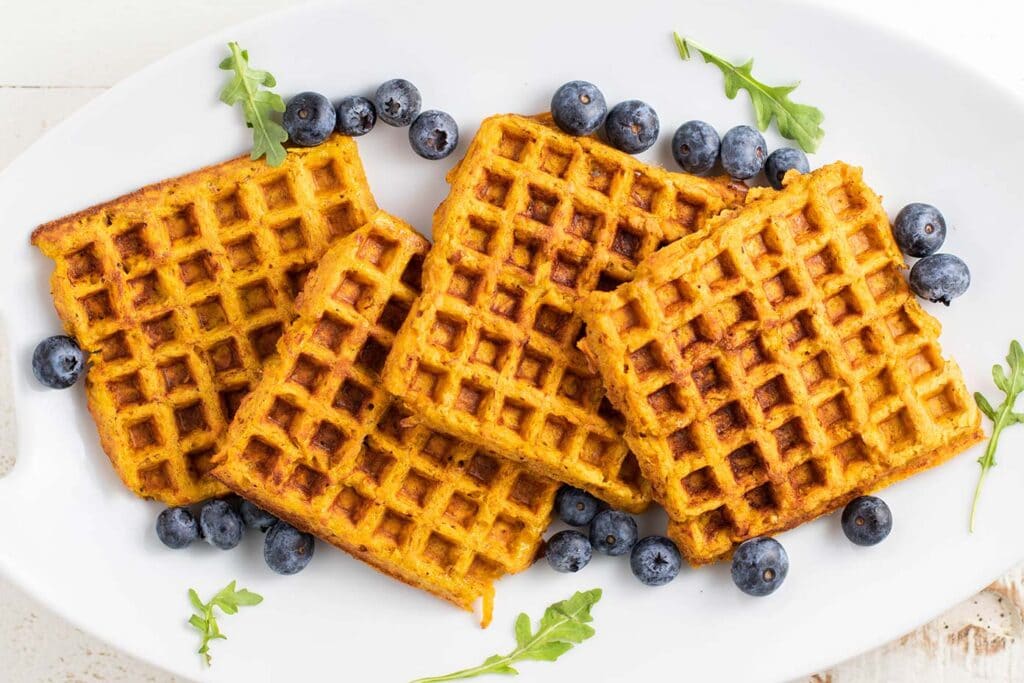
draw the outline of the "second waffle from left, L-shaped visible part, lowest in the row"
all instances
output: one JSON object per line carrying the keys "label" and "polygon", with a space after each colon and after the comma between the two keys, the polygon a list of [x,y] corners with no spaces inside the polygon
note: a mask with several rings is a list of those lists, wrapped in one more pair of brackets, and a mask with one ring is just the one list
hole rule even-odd
{"label": "second waffle from left, L-shaped visible part, lowest in the row", "polygon": [[281,358],[231,423],[214,476],[401,581],[466,609],[529,566],[557,484],[431,431],[380,369],[429,245],[379,213],[328,252]]}

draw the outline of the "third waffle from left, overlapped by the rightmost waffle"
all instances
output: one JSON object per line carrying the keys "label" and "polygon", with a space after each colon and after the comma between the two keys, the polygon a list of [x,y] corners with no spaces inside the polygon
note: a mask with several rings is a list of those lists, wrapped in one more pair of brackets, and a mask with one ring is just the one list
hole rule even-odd
{"label": "third waffle from left, overlapped by the rightmost waffle", "polygon": [[437,429],[642,510],[622,417],[575,347],[577,306],[742,193],[512,115],[481,124],[449,182],[385,385]]}

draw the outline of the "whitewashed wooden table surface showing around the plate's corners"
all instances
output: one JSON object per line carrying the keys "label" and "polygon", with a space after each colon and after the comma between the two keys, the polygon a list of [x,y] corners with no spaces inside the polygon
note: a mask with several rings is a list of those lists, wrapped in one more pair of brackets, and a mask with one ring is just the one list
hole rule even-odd
{"label": "whitewashed wooden table surface showing around the plate's corners", "polygon": [[[818,1],[955,52],[983,77],[1024,96],[1019,47],[1024,6],[1017,2]],[[291,4],[288,0],[0,0],[0,168],[48,127],[120,79],[208,33]],[[950,96],[955,93],[938,93],[936,101]],[[956,143],[950,138],[950,144]],[[0,345],[0,361],[6,362],[4,356]],[[0,435],[0,449],[4,445]],[[1022,641],[1024,569],[1018,568],[899,641],[808,680],[1021,680]],[[0,579],[0,681],[179,680],[78,631]]]}

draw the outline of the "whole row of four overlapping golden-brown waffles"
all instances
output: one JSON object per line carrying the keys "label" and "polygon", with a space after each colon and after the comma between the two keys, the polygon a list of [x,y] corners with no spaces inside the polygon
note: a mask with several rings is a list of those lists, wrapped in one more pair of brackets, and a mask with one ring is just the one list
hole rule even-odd
{"label": "whole row of four overlapping golden-brown waffles", "polygon": [[126,485],[234,492],[486,622],[556,482],[653,496],[700,563],[980,436],[854,169],[743,204],[507,115],[449,181],[432,248],[345,137],[37,229]]}

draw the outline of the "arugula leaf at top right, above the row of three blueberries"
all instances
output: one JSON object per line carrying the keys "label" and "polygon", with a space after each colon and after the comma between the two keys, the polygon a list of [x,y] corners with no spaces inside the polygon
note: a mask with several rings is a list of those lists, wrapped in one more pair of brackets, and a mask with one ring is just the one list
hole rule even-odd
{"label": "arugula leaf at top right, above the row of three blueberries", "polygon": [[673,33],[673,36],[682,59],[690,58],[690,47],[692,47],[700,53],[706,63],[713,63],[722,71],[725,77],[726,97],[735,99],[740,89],[746,90],[754,104],[758,128],[766,130],[774,118],[778,122],[778,132],[782,137],[796,140],[804,152],[817,150],[825,134],[821,129],[821,122],[825,116],[815,106],[799,104],[790,99],[790,93],[797,89],[799,82],[793,85],[766,85],[754,77],[754,59],[748,59],[737,66],[708,51],[692,40],[683,38],[678,33]]}

